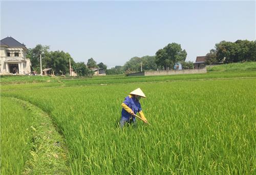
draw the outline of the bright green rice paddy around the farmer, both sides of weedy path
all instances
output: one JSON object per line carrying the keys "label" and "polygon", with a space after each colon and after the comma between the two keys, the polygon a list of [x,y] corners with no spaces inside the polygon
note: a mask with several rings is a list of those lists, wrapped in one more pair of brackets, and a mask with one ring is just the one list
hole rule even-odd
{"label": "bright green rice paddy around the farmer, both sides of weedy path", "polygon": [[[256,173],[255,71],[2,79],[2,174],[8,169],[24,172],[32,157],[27,137],[33,135],[26,128],[32,125],[33,113],[22,110],[12,98],[50,116],[67,146],[68,171],[63,174]],[[120,129],[121,103],[137,88],[147,96],[140,102],[151,125],[137,121],[136,128]],[[14,147],[12,142],[18,144]],[[8,156],[6,151],[20,156]]]}

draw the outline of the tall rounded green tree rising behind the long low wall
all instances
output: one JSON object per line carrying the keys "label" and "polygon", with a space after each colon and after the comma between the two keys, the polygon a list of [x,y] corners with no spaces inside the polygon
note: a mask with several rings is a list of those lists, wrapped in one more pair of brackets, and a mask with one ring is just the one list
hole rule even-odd
{"label": "tall rounded green tree rising behind the long low wall", "polygon": [[173,42],[156,52],[156,64],[166,70],[167,68],[173,68],[176,62],[183,63],[186,57],[186,50],[182,50],[181,45]]}

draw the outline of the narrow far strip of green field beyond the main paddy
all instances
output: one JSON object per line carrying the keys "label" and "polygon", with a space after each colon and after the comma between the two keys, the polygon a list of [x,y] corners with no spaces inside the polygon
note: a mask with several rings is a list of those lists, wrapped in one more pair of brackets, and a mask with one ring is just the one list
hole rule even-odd
{"label": "narrow far strip of green field beyond the main paddy", "polygon": [[51,80],[50,82],[37,82],[37,83],[19,83],[19,84],[1,84],[2,91],[22,90],[22,89],[41,89],[63,86],[80,86],[80,85],[95,85],[95,84],[122,84],[134,82],[162,82],[162,81],[195,81],[204,79],[222,79],[222,78],[251,78],[256,77],[256,71],[240,71],[240,72],[210,72],[206,74],[180,74],[180,75],[167,75],[167,76],[138,76],[138,77],[122,77],[122,76],[109,76],[109,77],[93,77],[93,78],[78,78],[66,79],[61,78],[57,82]]}

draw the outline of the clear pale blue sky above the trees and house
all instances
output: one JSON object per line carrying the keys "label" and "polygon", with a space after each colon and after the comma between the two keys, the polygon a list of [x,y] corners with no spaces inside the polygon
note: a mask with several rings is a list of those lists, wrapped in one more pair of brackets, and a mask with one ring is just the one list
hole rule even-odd
{"label": "clear pale blue sky above the trees and house", "polygon": [[1,38],[49,45],[75,61],[93,57],[109,68],[171,42],[195,61],[221,40],[255,40],[255,15],[255,1],[2,2]]}

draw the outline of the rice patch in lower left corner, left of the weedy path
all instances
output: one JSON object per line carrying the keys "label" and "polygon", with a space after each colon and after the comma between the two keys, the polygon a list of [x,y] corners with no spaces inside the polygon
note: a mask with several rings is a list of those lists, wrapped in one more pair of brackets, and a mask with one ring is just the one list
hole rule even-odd
{"label": "rice patch in lower left corner, left of the weedy path", "polygon": [[30,157],[33,116],[10,98],[1,97],[1,174],[21,174]]}

